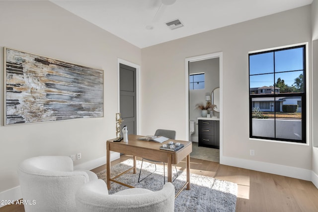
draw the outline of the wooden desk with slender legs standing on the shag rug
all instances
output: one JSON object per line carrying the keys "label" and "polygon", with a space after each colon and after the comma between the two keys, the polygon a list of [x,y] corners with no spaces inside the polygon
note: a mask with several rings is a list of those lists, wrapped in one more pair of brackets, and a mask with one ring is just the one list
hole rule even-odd
{"label": "wooden desk with slender legs standing on the shag rug", "polygon": [[[137,140],[142,136],[129,135],[128,142],[120,141],[114,142],[112,140],[108,140],[106,142],[106,150],[107,150],[107,188],[110,189],[110,181],[119,183],[121,185],[133,188],[132,186],[126,185],[119,181],[116,181],[115,178],[120,175],[134,169],[134,174],[136,174],[136,157],[143,157],[152,160],[162,161],[167,163],[168,167],[168,182],[172,182],[172,164],[179,163],[183,158],[186,157],[186,168],[187,168],[187,182],[184,184],[181,190],[187,186],[187,190],[190,190],[190,153],[192,152],[192,142],[189,141],[176,141],[176,140],[168,140],[173,142],[180,142],[184,145],[178,151],[168,151],[159,149],[162,143],[168,143],[168,141],[164,141],[162,143],[151,142],[151,141],[140,141]],[[120,175],[110,178],[110,151],[121,152],[128,155],[134,156],[134,167],[131,169],[121,173]],[[180,190],[180,191],[181,191]],[[180,193],[179,191],[179,193]],[[178,193],[178,194],[179,194]],[[177,194],[177,195],[178,195]],[[177,196],[176,195],[176,196]]]}

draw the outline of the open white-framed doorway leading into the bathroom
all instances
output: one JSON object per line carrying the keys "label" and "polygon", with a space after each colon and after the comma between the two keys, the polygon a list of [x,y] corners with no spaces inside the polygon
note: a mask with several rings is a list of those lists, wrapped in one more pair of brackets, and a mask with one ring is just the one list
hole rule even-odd
{"label": "open white-framed doorway leading into the bathroom", "polygon": [[[186,138],[188,141],[193,141],[193,153],[199,155],[199,159],[211,160],[215,162],[222,161],[222,149],[223,149],[223,114],[222,114],[222,88],[223,88],[223,81],[222,81],[222,70],[223,70],[223,54],[220,53],[213,53],[203,56],[197,56],[192,58],[187,58],[185,60],[185,75],[186,75]],[[213,65],[214,64],[214,65]],[[217,64],[217,66],[215,66]],[[209,69],[214,69],[213,73],[209,72]],[[201,74],[204,73],[204,86],[198,86],[198,90],[193,90],[193,83],[192,79],[190,81],[191,76],[193,74]],[[189,77],[190,76],[190,77]],[[202,83],[202,80],[198,80],[198,83]],[[213,149],[207,147],[199,147],[198,144],[198,117],[201,116],[201,111],[195,110],[195,105],[199,103],[206,103],[209,101],[211,97],[212,91],[220,87],[220,105],[218,109],[220,110],[219,113],[214,112],[213,116],[217,116],[220,118],[220,127],[219,127],[219,138],[220,138],[220,149]],[[190,134],[190,121],[191,124],[193,121],[195,122],[195,133]],[[192,132],[192,130],[191,130]],[[199,153],[196,151],[200,151]],[[216,155],[217,154],[217,155]],[[203,156],[202,156],[203,155]],[[206,156],[204,156],[206,155]],[[217,156],[217,157],[215,157]],[[204,158],[205,157],[205,158]]]}

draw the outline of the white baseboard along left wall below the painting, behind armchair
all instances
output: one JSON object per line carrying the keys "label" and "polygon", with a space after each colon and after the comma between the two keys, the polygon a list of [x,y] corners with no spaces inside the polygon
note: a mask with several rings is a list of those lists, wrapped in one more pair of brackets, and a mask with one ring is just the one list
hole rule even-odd
{"label": "white baseboard along left wall below the painting, behind armchair", "polygon": [[[120,157],[119,152],[111,152],[110,154],[110,161],[116,160]],[[91,170],[98,166],[104,165],[106,163],[106,156],[90,160],[79,165],[74,166],[74,170],[85,169]],[[12,189],[0,192],[0,200],[13,200],[17,201],[22,199],[21,189],[20,186],[14,187]],[[5,205],[0,205],[0,208]]]}

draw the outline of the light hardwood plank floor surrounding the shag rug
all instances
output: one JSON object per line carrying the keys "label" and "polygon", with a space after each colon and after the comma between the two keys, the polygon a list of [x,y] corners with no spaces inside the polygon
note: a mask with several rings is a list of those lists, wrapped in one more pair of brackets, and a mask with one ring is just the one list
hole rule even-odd
{"label": "light hardwood plank floor surrounding the shag rug", "polygon": [[[126,160],[122,155],[112,165]],[[181,161],[177,167],[185,169]],[[102,171],[106,165],[93,169]],[[238,184],[236,212],[318,212],[318,189],[310,181],[190,159],[191,173]],[[0,212],[24,212],[23,206],[5,206]]]}

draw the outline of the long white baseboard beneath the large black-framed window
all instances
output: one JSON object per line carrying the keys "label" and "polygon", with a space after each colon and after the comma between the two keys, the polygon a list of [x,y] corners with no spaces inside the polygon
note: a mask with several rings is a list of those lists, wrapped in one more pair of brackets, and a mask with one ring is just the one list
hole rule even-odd
{"label": "long white baseboard beneath the large black-framed window", "polygon": [[312,181],[312,170],[303,168],[225,156],[220,157],[220,164]]}

